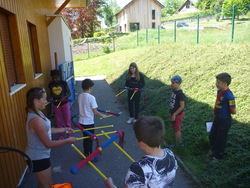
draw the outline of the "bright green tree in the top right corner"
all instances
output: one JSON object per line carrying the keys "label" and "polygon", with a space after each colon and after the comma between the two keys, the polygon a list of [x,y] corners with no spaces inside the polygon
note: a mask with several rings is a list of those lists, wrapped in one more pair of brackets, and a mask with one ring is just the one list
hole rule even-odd
{"label": "bright green tree in the top right corner", "polygon": [[246,14],[250,9],[249,0],[225,0],[222,6],[222,13],[225,16],[232,16],[232,7],[236,6],[235,16]]}

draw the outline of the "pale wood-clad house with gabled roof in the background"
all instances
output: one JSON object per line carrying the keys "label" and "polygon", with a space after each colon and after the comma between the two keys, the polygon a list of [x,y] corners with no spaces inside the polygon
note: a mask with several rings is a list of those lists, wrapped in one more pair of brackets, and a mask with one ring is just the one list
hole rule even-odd
{"label": "pale wood-clad house with gabled roof in the background", "polygon": [[157,28],[163,8],[157,0],[132,0],[115,15],[117,32]]}

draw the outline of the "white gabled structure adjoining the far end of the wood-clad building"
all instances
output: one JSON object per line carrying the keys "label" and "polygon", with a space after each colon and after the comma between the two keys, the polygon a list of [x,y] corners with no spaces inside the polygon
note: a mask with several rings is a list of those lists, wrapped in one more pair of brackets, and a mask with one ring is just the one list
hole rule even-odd
{"label": "white gabled structure adjoining the far end of the wood-clad building", "polygon": [[57,16],[48,26],[48,34],[52,69],[73,61],[71,32],[62,16]]}

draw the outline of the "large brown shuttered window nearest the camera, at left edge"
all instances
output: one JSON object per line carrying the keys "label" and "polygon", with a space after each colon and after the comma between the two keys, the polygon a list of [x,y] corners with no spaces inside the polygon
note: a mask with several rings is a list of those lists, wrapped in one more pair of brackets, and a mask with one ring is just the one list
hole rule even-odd
{"label": "large brown shuttered window nearest the camera, at left edge", "polygon": [[4,62],[9,92],[25,83],[16,16],[0,8],[0,60]]}

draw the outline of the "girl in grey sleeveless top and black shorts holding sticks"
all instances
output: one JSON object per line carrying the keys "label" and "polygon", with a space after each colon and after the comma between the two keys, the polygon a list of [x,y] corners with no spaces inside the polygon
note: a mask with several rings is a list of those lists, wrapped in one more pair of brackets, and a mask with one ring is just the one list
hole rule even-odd
{"label": "girl in grey sleeveless top and black shorts holding sticks", "polygon": [[50,120],[45,117],[41,110],[45,109],[47,103],[44,88],[31,88],[26,95],[27,98],[27,123],[26,132],[28,146],[26,154],[33,163],[33,172],[38,179],[38,187],[51,187],[51,165],[50,150],[64,144],[73,144],[76,138],[70,137],[60,141],[52,141],[51,133],[73,133],[71,128],[51,128]]}

